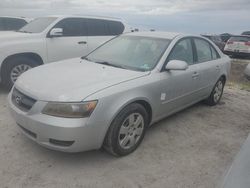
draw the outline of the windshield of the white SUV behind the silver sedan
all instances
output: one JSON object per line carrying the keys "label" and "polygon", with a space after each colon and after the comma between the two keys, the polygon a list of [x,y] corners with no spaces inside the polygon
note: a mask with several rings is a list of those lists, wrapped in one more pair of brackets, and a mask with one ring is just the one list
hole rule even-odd
{"label": "windshield of the white SUV behind the silver sedan", "polygon": [[45,18],[37,18],[32,22],[28,23],[24,27],[22,27],[18,32],[23,33],[41,33],[43,32],[53,21],[57,18],[55,17],[45,17]]}

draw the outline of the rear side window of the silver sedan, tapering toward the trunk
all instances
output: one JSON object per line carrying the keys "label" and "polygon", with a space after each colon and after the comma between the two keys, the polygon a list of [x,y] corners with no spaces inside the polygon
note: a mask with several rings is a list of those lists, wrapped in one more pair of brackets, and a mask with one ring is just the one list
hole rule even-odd
{"label": "rear side window of the silver sedan, tapering toward the trunk", "polygon": [[202,63],[218,59],[219,55],[214,47],[207,41],[202,39],[194,39],[197,52],[197,62]]}

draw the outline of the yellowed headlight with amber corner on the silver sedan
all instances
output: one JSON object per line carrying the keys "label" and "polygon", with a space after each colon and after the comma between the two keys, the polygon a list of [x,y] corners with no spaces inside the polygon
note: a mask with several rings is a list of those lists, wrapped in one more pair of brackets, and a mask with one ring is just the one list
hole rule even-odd
{"label": "yellowed headlight with amber corner on the silver sedan", "polygon": [[89,117],[97,105],[97,101],[82,103],[49,102],[42,110],[43,114],[65,118]]}

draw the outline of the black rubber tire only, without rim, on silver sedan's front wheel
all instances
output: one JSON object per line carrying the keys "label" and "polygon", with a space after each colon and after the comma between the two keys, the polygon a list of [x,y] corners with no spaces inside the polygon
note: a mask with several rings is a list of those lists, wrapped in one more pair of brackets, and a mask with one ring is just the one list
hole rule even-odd
{"label": "black rubber tire only, without rim, on silver sedan's front wheel", "polygon": [[[142,115],[143,120],[144,120],[144,129],[138,142],[130,149],[124,149],[120,146],[119,141],[118,141],[119,131],[124,120],[132,113],[139,113],[140,115]],[[118,113],[118,115],[115,117],[115,119],[111,123],[109,130],[106,134],[105,140],[104,140],[103,148],[108,153],[114,156],[125,156],[125,155],[132,153],[133,151],[136,150],[136,148],[142,142],[146,129],[148,127],[148,124],[149,124],[149,116],[148,116],[147,111],[142,105],[138,103],[132,103],[126,106],[123,110],[121,110]]]}

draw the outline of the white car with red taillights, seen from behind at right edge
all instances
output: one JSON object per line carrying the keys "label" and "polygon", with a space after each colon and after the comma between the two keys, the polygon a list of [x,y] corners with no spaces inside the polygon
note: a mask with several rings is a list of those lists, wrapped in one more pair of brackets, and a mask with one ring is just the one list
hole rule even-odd
{"label": "white car with red taillights, seen from behind at right edge", "polygon": [[250,36],[231,37],[226,43],[224,53],[233,57],[250,57]]}

